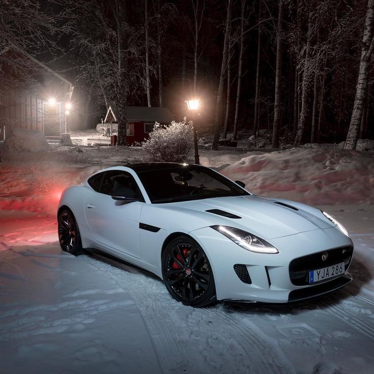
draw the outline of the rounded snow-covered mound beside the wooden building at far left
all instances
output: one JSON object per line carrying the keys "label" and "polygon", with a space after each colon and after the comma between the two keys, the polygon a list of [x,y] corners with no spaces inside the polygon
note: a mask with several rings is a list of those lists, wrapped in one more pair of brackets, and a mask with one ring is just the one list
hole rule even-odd
{"label": "rounded snow-covered mound beside the wooden building at far left", "polygon": [[51,147],[40,130],[12,129],[3,145],[3,154],[48,150]]}

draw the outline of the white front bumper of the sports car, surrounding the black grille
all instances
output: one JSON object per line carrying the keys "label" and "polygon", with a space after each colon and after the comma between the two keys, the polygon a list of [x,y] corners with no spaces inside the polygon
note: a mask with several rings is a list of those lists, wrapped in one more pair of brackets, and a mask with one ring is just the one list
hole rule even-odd
{"label": "white front bumper of the sports car, surrounding the black grille", "polygon": [[[353,246],[351,239],[337,228],[266,239],[279,250],[278,254],[246,251],[210,227],[192,231],[189,235],[200,243],[209,259],[217,300],[287,303],[334,291],[352,280],[347,272],[348,266],[345,274],[316,285],[296,286],[290,279],[292,260],[333,248]],[[239,278],[238,271],[234,269],[237,264],[245,265],[251,283],[241,280],[246,277]]]}

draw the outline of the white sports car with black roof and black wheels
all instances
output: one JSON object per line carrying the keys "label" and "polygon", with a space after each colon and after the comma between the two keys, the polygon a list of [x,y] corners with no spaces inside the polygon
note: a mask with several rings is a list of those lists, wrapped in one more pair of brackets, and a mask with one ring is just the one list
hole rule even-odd
{"label": "white sports car with black roof and black wheels", "polygon": [[61,196],[61,248],[92,248],[162,278],[185,305],[287,303],[337,290],[353,243],[333,217],[253,195],[200,166],[148,163],[93,174]]}

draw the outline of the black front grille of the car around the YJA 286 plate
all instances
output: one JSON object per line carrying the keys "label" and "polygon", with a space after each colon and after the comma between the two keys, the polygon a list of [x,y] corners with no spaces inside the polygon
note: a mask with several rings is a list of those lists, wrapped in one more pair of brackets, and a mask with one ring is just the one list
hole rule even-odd
{"label": "black front grille of the car around the YJA 286 plate", "polygon": [[[322,260],[322,254],[328,254],[326,261]],[[319,269],[344,261],[345,271],[348,269],[353,254],[353,246],[335,248],[334,250],[322,251],[312,255],[299,257],[290,262],[289,272],[291,283],[295,286],[306,286],[309,284],[309,270]]]}

